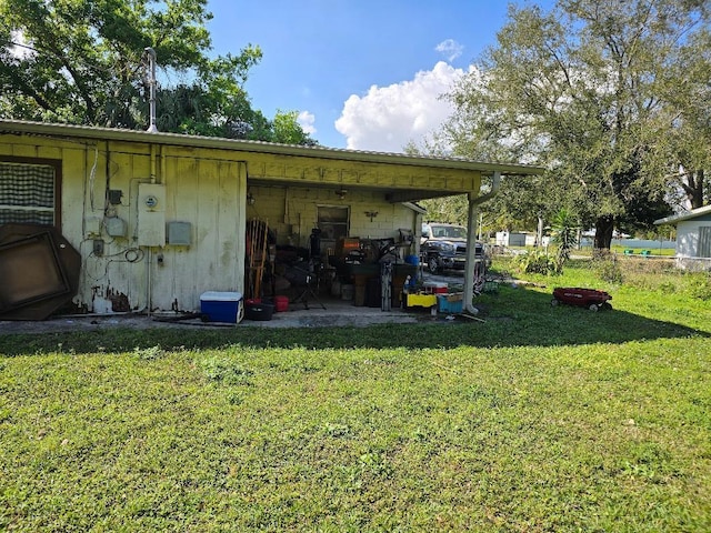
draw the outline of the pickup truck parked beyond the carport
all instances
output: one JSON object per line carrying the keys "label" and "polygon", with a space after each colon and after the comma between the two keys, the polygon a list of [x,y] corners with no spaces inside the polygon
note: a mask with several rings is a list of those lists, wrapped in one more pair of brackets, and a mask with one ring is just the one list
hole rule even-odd
{"label": "pickup truck parked beyond the carport", "polygon": [[[475,259],[484,271],[491,266],[491,258],[484,245],[475,243]],[[467,263],[467,228],[442,222],[422,224],[420,257],[432,274],[443,270],[464,270]],[[483,273],[483,272],[481,272]]]}

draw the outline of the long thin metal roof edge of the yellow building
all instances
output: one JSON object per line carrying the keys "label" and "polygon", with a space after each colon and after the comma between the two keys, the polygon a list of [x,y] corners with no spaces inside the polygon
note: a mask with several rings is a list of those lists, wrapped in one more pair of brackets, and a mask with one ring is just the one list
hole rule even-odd
{"label": "long thin metal roof edge of the yellow building", "polygon": [[278,144],[273,142],[248,141],[241,139],[184,135],[180,133],[151,133],[147,131],[121,130],[116,128],[29,122],[20,120],[0,120],[0,133],[144,142],[152,144],[170,144],[191,148],[257,152],[274,155],[294,155],[303,158],[333,159],[371,163],[404,164],[441,169],[461,169],[478,171],[482,174],[492,174],[493,172],[500,172],[504,175],[541,174],[545,170],[541,167],[532,167],[527,164],[485,163],[462,158],[438,158],[324,147],[302,147],[296,144]]}

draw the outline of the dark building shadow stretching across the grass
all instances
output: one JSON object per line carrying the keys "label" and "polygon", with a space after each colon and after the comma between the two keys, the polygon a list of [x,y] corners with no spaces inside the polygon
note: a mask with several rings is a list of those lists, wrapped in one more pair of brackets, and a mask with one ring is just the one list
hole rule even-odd
{"label": "dark building shadow stretching across the grass", "polygon": [[364,328],[154,328],[9,334],[0,335],[0,355],[56,351],[122,353],[152,346],[163,350],[209,350],[230,345],[272,349],[557,346],[711,336],[705,331],[615,309],[592,312],[568,305],[553,308],[550,301],[551,295],[540,291],[504,288],[497,295],[483,295],[477,301],[482,310],[481,320],[458,316],[453,321],[443,318],[431,321],[423,316],[423,321],[415,324]]}

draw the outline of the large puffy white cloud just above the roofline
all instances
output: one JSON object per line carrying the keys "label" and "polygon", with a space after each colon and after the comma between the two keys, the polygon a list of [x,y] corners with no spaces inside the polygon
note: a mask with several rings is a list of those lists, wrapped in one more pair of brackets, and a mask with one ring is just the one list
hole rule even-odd
{"label": "large puffy white cloud just above the roofline", "polygon": [[351,150],[402,152],[410,141],[418,143],[444,123],[453,108],[440,97],[463,74],[440,61],[413,80],[372,86],[363,97],[351,94],[336,129],[346,135]]}

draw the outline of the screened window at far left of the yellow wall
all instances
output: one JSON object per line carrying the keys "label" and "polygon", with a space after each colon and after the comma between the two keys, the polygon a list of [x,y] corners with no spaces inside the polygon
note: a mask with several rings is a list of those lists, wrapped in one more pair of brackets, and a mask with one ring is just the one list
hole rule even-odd
{"label": "screened window at far left of the yellow wall", "polygon": [[58,225],[56,163],[0,161],[0,224]]}

